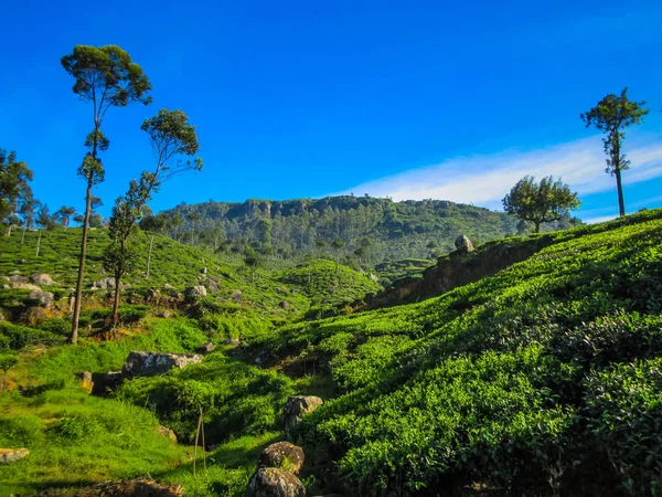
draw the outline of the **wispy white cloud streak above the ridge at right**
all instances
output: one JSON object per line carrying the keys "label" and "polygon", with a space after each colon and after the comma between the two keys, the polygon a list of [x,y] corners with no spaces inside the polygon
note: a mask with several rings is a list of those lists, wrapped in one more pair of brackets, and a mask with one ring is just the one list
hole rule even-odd
{"label": "wispy white cloud streak above the ridge at right", "polygon": [[[662,142],[638,139],[627,144],[632,166],[623,182],[632,184],[662,176]],[[522,177],[560,177],[580,195],[611,190],[605,173],[605,152],[598,136],[536,150],[457,157],[359,184],[346,190],[394,200],[442,199],[499,208],[501,199]]]}

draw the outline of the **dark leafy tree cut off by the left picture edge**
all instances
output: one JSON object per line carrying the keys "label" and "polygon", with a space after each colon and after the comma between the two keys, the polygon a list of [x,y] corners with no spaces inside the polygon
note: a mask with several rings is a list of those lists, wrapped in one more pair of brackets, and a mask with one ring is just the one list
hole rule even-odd
{"label": "dark leafy tree cut off by the left picture edge", "polygon": [[[20,212],[21,204],[32,202],[32,171],[25,162],[17,160],[17,152],[0,148],[0,223],[11,234],[13,218]],[[12,218],[10,222],[10,218]]]}

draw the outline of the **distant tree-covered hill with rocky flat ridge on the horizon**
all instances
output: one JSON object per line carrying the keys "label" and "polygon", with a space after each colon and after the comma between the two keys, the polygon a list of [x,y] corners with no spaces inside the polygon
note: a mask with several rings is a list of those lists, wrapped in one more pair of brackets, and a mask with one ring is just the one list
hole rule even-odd
{"label": "distant tree-covered hill with rocky flat ridge on the horizon", "polygon": [[[243,203],[182,203],[169,214],[179,214],[180,235],[191,236],[191,214],[196,214],[195,236],[200,243],[217,246],[222,240],[253,241],[288,258],[300,253],[318,255],[316,241],[329,245],[341,239],[345,263],[364,258],[370,264],[404,258],[430,258],[453,250],[453,241],[466,234],[477,243],[517,233],[516,218],[504,212],[445,200],[394,202],[372,197],[327,197],[324,199],[257,200]],[[566,219],[544,231],[569,228],[578,220]],[[174,234],[174,233],[172,233]],[[365,255],[355,255],[365,245]]]}

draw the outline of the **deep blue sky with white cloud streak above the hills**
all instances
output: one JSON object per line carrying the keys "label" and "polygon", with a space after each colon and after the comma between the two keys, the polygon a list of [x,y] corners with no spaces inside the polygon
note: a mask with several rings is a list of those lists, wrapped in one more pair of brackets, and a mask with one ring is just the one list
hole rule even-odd
{"label": "deep blue sky with white cloud streak above the hills", "polygon": [[34,170],[52,210],[82,209],[76,168],[92,128],[60,57],[117,44],[154,103],[104,123],[104,213],[152,157],[140,124],[181,108],[197,126],[199,175],[182,201],[354,192],[499,209],[525,173],[579,191],[579,215],[617,213],[599,136],[579,113],[630,87],[651,107],[628,134],[626,207],[662,207],[662,4],[658,1],[6,2],[0,147]]}

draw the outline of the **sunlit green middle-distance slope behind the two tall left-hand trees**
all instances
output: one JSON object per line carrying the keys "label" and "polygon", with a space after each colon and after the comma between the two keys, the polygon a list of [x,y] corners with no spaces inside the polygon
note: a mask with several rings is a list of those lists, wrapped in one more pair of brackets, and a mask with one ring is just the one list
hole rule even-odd
{"label": "sunlit green middle-distance slope behind the two tall left-hand trees", "polygon": [[[78,229],[44,231],[39,257],[36,256],[38,232],[25,233],[23,244],[21,244],[21,232],[14,232],[11,237],[0,236],[0,275],[7,275],[12,271],[20,271],[25,276],[47,273],[54,279],[56,287],[73,287],[78,267],[79,236]],[[103,273],[102,263],[102,252],[107,243],[106,230],[97,229],[89,232],[86,286],[89,286],[93,281],[108,276]],[[246,268],[227,265],[199,247],[178,243],[168,236],[154,239],[151,274],[147,281],[145,273],[149,237],[139,231],[136,243],[143,257],[139,262],[138,269],[122,279],[135,288],[148,286],[159,288],[166,283],[179,290],[200,284],[209,287],[209,278],[214,277],[218,279],[220,287],[218,292],[214,292],[214,297],[231,299],[235,290],[241,290],[244,294],[241,306],[259,316],[287,320],[305,313],[309,307],[305,296],[291,294],[287,288],[285,295],[278,292],[276,288],[282,285],[268,274],[259,272],[254,286]],[[207,268],[206,278],[201,275],[203,267]],[[288,309],[279,306],[284,299],[292,304]]]}

